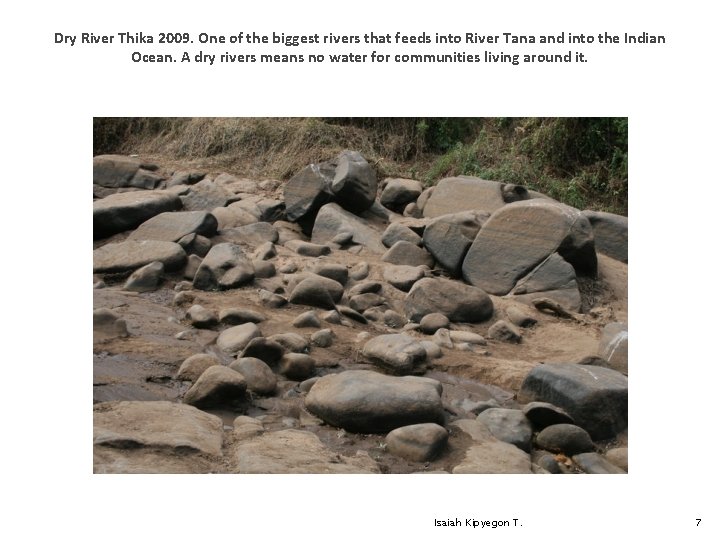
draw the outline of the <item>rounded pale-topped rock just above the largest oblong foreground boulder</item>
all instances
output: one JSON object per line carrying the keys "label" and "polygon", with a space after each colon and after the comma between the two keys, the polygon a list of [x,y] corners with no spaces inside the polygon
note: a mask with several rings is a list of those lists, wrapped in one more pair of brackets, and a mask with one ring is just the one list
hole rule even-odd
{"label": "rounded pale-topped rock just above the largest oblong foreground boulder", "polygon": [[374,337],[365,343],[362,354],[376,366],[395,375],[423,371],[427,356],[422,345],[403,334]]}

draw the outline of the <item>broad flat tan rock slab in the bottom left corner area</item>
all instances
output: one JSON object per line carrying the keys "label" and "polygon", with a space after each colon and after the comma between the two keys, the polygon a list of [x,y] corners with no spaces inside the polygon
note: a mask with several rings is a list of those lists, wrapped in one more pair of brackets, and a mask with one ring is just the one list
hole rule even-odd
{"label": "broad flat tan rock slab in the bottom left corner area", "polygon": [[111,401],[93,407],[93,444],[153,447],[219,456],[222,421],[190,405],[169,401]]}

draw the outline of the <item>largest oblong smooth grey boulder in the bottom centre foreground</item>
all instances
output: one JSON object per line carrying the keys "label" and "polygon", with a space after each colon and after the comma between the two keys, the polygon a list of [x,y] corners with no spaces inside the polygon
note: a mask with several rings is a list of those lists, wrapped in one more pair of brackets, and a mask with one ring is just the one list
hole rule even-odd
{"label": "largest oblong smooth grey boulder in the bottom centre foreground", "polygon": [[410,424],[444,424],[441,393],[442,386],[431,379],[351,370],[321,377],[305,406],[333,426],[383,433]]}

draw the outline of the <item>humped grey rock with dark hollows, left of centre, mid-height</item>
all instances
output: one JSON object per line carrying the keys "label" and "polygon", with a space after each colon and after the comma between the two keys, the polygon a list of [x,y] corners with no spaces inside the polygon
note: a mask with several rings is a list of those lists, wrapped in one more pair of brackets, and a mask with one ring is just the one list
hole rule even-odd
{"label": "humped grey rock with dark hollows, left of centre, mid-height", "polygon": [[196,289],[232,289],[252,281],[255,269],[243,249],[235,244],[216,244],[203,259],[193,280]]}

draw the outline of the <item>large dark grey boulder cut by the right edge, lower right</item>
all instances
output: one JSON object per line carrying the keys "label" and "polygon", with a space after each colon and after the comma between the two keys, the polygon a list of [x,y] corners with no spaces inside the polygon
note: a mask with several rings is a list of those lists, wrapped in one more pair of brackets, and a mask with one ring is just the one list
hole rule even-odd
{"label": "large dark grey boulder cut by the right edge, lower right", "polygon": [[593,440],[627,428],[628,379],[612,369],[578,364],[542,364],[522,383],[519,399],[562,407]]}

